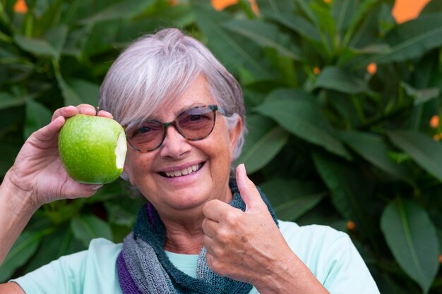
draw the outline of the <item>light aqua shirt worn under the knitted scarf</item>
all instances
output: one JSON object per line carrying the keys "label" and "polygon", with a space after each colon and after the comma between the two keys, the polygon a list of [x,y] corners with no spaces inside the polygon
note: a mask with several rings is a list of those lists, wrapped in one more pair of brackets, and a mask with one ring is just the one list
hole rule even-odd
{"label": "light aqua shirt worn under the knitted scarf", "polygon": [[[280,231],[293,252],[332,294],[378,294],[364,260],[346,233],[328,226],[298,226],[280,221]],[[95,239],[89,249],[67,255],[16,278],[26,294],[122,294],[117,257],[121,244]],[[196,276],[197,255],[167,252],[171,262]],[[259,294],[253,288],[249,294]]]}

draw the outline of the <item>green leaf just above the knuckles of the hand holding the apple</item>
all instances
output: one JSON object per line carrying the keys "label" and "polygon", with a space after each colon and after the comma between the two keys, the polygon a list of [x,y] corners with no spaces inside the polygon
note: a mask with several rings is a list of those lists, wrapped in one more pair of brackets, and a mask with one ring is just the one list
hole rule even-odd
{"label": "green leaf just above the knuckles of the hand holding the apple", "polygon": [[42,128],[51,122],[52,112],[43,104],[32,99],[26,100],[26,124],[23,136],[29,137],[30,134]]}

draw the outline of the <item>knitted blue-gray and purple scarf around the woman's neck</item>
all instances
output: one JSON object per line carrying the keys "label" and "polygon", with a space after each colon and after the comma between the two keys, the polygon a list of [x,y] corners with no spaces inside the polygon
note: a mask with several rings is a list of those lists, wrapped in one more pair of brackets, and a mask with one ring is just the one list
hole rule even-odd
{"label": "knitted blue-gray and purple scarf around the woman's neck", "polygon": [[[245,211],[246,204],[239,195],[234,178],[229,180],[229,187],[233,195],[232,202],[229,204]],[[259,192],[277,224],[270,203],[263,192],[261,190]],[[160,216],[152,204],[145,204],[138,212],[132,232],[124,239],[123,250],[117,259],[119,283],[124,294],[246,294],[250,292],[252,288],[250,284],[215,274],[208,267],[204,247],[198,255],[197,278],[179,271],[165,254],[165,240],[165,226]]]}

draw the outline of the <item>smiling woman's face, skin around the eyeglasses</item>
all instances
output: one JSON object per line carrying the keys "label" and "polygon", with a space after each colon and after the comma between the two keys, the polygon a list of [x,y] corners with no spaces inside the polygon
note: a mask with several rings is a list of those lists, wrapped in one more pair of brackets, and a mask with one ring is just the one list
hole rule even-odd
{"label": "smiling woman's face, skin around the eyeglasses", "polygon": [[[208,104],[216,102],[210,96],[207,80],[200,75],[176,103],[163,107],[152,119],[173,121],[186,109]],[[241,121],[229,130],[220,112],[216,113],[212,133],[202,140],[187,140],[170,126],[162,145],[151,152],[138,152],[129,146],[124,171],[160,215],[171,219],[183,213],[198,216],[208,200],[231,199],[229,171],[240,133]],[[189,168],[193,172],[184,175]]]}

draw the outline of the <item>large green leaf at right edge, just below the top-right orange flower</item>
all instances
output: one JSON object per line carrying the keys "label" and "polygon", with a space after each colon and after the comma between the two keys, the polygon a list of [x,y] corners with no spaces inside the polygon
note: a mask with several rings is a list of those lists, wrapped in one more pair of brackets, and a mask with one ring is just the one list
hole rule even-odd
{"label": "large green leaf at right edge, just below the top-right orange flower", "polygon": [[378,64],[406,61],[442,45],[442,13],[431,13],[410,20],[391,30],[384,42],[390,47],[368,62]]}

